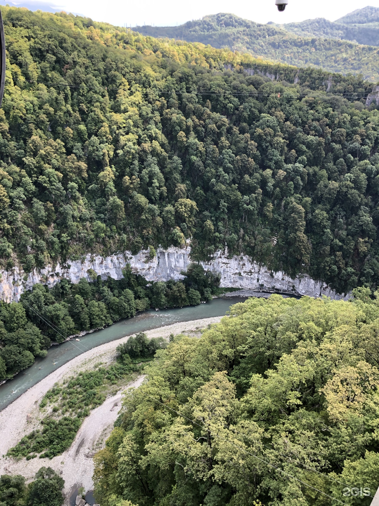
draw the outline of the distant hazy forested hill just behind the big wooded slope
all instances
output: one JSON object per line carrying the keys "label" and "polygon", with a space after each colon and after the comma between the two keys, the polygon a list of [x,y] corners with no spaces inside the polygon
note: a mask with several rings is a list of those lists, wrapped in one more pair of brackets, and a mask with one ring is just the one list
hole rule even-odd
{"label": "distant hazy forested hill just behind the big wooded slope", "polygon": [[[330,72],[363,74],[365,79],[379,78],[379,40],[376,27],[363,28],[329,25],[321,26],[310,20],[289,27],[275,24],[259,24],[234,14],[218,13],[202,19],[187,21],[179,26],[137,26],[143,35],[169,37],[209,44],[214,48],[228,48],[254,57],[267,58],[299,67],[313,66]],[[314,30],[314,34],[310,34]],[[342,33],[342,32],[346,33]],[[329,32],[329,33],[328,33]],[[362,33],[361,33],[362,32]],[[362,46],[349,40],[333,37],[358,36],[373,46]]]}

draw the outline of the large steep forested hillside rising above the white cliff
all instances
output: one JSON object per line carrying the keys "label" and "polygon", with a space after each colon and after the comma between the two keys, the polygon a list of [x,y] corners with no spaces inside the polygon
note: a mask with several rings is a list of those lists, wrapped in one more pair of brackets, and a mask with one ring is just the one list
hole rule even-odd
{"label": "large steep forested hillside rising above the white cliff", "polygon": [[4,267],[191,238],[194,261],[227,246],[341,292],[379,284],[370,83],[62,13],[3,15]]}

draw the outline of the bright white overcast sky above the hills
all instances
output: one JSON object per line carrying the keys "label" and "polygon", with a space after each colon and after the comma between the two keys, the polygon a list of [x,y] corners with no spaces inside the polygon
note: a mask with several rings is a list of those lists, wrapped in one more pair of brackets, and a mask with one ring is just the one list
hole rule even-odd
{"label": "bright white overcast sky above the hills", "polygon": [[[360,9],[367,4],[353,0],[289,0],[285,12],[279,13],[275,0],[13,0],[9,4],[27,7],[31,10],[64,10],[88,16],[96,21],[107,21],[114,25],[174,26],[191,19],[199,19],[207,14],[231,12],[237,16],[259,23],[274,21],[289,23],[310,18],[326,18],[334,21],[345,14]],[[369,0],[369,4],[379,7],[379,0]],[[6,0],[0,0],[2,5]],[[48,9],[50,7],[50,9]]]}

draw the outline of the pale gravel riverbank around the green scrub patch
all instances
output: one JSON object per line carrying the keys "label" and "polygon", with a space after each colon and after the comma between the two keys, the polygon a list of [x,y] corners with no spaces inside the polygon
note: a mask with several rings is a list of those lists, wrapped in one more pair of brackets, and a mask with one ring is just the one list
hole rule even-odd
{"label": "pale gravel riverbank around the green scrub patch", "polygon": [[[153,330],[146,331],[148,338],[159,336],[168,338],[168,336],[179,333],[188,333],[190,335],[200,335],[200,330],[211,323],[217,323],[221,316],[213,318],[203,318],[200,320],[174,323]],[[33,429],[40,428],[41,413],[38,405],[43,395],[54,386],[55,383],[62,381],[67,376],[71,376],[81,370],[91,369],[94,364],[103,362],[111,363],[115,360],[116,347],[125,341],[129,336],[106,343],[93,348],[67,362],[62,367],[43,378],[12,404],[0,412],[0,433],[4,436],[0,438],[0,475],[2,474],[22,474],[30,481],[35,473],[42,466],[50,466],[57,473],[61,474],[65,480],[64,493],[69,497],[75,487],[83,486],[86,491],[92,488],[93,473],[93,451],[102,448],[110,431],[112,430],[114,420],[117,418],[118,410],[121,406],[121,394],[125,388],[136,388],[144,380],[144,376],[138,376],[127,387],[124,387],[116,395],[108,399],[96,409],[91,411],[85,418],[83,424],[71,447],[62,455],[48,458],[33,458],[26,460],[15,460],[5,457],[9,448]],[[67,501],[66,501],[67,503]]]}

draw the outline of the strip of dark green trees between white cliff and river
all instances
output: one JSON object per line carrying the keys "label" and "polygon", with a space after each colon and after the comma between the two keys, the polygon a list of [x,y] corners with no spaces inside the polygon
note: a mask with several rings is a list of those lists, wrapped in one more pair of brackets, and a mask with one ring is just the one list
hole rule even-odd
{"label": "strip of dark green trees between white cliff and river", "polygon": [[207,302],[219,292],[220,277],[190,265],[183,281],[148,283],[130,266],[120,280],[102,281],[94,271],[72,284],[62,279],[52,289],[35,284],[21,302],[0,303],[0,381],[45,357],[51,343],[62,343],[81,330],[103,328],[137,311]]}

